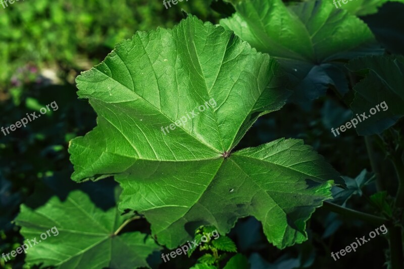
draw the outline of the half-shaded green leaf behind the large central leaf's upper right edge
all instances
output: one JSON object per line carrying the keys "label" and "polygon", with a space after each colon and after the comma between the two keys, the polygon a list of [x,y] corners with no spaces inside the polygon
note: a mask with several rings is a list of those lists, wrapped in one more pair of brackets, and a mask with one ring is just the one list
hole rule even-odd
{"label": "half-shaded green leaf behind the large central leaf's upper right edge", "polygon": [[324,95],[329,85],[345,94],[348,86],[340,63],[381,52],[363,21],[328,1],[286,7],[281,0],[251,0],[234,6],[237,12],[220,24],[275,57],[299,103]]}

